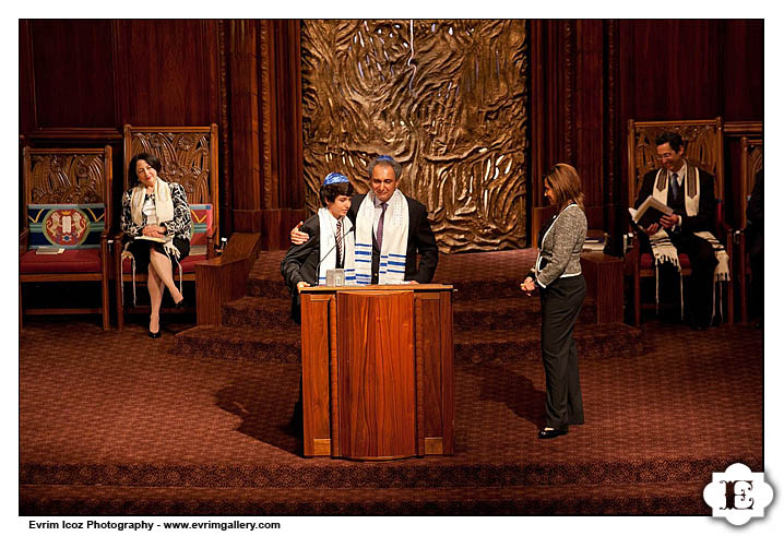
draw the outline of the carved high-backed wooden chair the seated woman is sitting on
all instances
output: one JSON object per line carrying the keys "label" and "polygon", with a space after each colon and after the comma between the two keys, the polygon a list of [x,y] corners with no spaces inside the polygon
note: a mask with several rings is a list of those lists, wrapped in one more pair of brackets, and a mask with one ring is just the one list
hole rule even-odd
{"label": "carved high-backed wooden chair the seated woman is sitting on", "polygon": [[[159,177],[167,182],[179,182],[188,195],[193,228],[191,250],[182,261],[182,281],[195,282],[195,264],[215,255],[214,245],[218,229],[217,183],[217,124],[210,127],[132,127],[123,131],[123,188],[135,184],[135,177],[128,176],[128,164],[133,155],[150,153],[161,159]],[[132,282],[131,261],[123,260],[122,249],[127,241],[120,233],[115,241],[115,266],[117,296],[117,326],[124,325],[124,311],[132,299],[124,291],[124,283]],[[179,276],[175,275],[178,281]],[[136,274],[135,284],[146,285],[146,274]]]}

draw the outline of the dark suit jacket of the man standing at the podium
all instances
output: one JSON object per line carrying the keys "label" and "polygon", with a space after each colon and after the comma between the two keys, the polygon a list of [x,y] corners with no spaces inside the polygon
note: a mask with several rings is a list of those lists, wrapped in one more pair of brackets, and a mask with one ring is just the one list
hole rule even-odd
{"label": "dark suit jacket of the man standing at the podium", "polygon": [[[355,193],[352,196],[352,207],[348,210],[348,217],[356,226],[357,213],[359,205],[365,200],[366,194]],[[427,209],[415,199],[404,195],[408,202],[408,243],[405,252],[405,281],[416,281],[417,283],[430,283],[436,274],[438,266],[438,246],[436,245],[436,235],[432,234],[430,222],[427,219]],[[373,237],[373,257],[371,264],[371,282],[378,283],[379,277],[379,260],[381,253],[376,243],[376,234]],[[416,265],[417,252],[421,255],[419,266]]]}

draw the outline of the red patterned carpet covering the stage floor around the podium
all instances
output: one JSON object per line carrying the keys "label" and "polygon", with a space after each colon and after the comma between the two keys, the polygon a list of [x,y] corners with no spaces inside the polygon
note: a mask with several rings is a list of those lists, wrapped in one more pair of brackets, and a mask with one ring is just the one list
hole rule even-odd
{"label": "red patterned carpet covering the stage floor around the podium", "polygon": [[[249,287],[268,279],[263,262]],[[442,262],[438,276],[463,269]],[[140,325],[26,323],[20,513],[709,515],[712,472],[762,471],[762,335],[749,326],[650,321],[632,352],[586,342],[586,424],[554,441],[536,439],[537,359],[456,358],[455,455],[381,463],[301,457],[284,429],[297,364],[183,353],[174,332],[188,327],[153,341]]]}

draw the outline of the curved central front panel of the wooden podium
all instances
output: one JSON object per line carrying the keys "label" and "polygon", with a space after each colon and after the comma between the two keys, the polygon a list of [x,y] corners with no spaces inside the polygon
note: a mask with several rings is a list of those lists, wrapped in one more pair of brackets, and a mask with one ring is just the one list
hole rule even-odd
{"label": "curved central front panel of the wooden podium", "polygon": [[417,455],[413,319],[413,291],[337,293],[341,456]]}

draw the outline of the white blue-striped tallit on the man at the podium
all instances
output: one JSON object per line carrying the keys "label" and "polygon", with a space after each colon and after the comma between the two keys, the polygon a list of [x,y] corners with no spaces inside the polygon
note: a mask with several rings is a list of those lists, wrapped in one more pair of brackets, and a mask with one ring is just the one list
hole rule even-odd
{"label": "white blue-striped tallit on the man at the podium", "polygon": [[[357,211],[355,243],[357,285],[369,285],[371,281],[375,210],[376,194],[370,190]],[[379,285],[395,285],[403,282],[407,243],[408,202],[400,190],[395,190],[388,201],[384,214],[379,260]]]}

